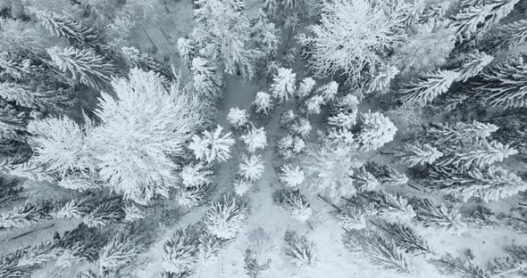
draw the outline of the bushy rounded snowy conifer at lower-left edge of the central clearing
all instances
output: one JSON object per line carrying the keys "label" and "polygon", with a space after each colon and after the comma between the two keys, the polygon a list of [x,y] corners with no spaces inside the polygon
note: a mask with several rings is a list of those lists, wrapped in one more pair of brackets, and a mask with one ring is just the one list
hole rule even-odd
{"label": "bushy rounded snowy conifer at lower-left edge of the central clearing", "polygon": [[211,208],[205,212],[205,226],[214,236],[231,240],[243,229],[248,209],[245,200],[225,194],[220,200],[214,200]]}

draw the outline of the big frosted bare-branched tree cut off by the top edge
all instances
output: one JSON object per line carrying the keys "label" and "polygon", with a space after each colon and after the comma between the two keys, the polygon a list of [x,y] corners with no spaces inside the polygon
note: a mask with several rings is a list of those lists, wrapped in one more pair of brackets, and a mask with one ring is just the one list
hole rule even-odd
{"label": "big frosted bare-branched tree cut off by the top edge", "polygon": [[357,82],[364,69],[376,69],[381,55],[401,38],[402,1],[324,1],[313,37],[299,36],[312,49],[312,69],[319,77],[337,72]]}

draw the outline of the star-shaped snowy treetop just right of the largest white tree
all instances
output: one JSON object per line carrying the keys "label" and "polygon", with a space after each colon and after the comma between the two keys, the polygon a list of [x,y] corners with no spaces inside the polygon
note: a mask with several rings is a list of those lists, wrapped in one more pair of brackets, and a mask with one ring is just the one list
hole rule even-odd
{"label": "star-shaped snowy treetop just right of the largest white tree", "polygon": [[230,147],[235,143],[230,132],[222,135],[223,128],[217,126],[213,132],[205,130],[202,137],[192,136],[188,149],[194,151],[197,159],[212,163],[214,160],[225,161],[230,158]]}

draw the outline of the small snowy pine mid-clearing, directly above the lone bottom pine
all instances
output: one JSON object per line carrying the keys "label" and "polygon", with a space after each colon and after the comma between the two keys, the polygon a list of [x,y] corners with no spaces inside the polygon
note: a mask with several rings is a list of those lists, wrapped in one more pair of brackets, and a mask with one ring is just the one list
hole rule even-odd
{"label": "small snowy pine mid-clearing, directly above the lone bottom pine", "polygon": [[313,211],[305,196],[297,190],[283,189],[272,193],[272,201],[289,211],[291,217],[298,221],[306,221]]}

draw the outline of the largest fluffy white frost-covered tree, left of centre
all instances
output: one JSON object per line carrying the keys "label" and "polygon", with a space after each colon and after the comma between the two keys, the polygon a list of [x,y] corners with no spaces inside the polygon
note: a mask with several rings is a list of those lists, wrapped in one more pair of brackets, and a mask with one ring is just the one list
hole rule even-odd
{"label": "largest fluffy white frost-covered tree, left of centre", "polygon": [[99,176],[131,200],[168,196],[178,178],[172,157],[204,123],[201,102],[177,84],[165,86],[153,71],[130,70],[129,78],[114,78],[112,86],[118,100],[101,94],[101,125],[89,139]]}

